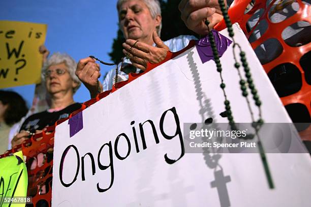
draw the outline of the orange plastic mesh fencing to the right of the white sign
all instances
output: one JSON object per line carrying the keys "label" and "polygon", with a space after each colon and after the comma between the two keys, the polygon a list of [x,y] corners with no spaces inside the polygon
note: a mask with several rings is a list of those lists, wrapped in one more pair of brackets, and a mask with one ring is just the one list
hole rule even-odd
{"label": "orange plastic mesh fencing to the right of the white sign", "polygon": [[[295,84],[295,87],[298,87],[298,89],[293,91],[292,94],[282,95],[279,93],[283,105],[291,115],[293,122],[311,122],[311,65],[310,60],[308,60],[311,58],[311,6],[306,2],[307,1],[303,2],[301,0],[256,0],[253,1],[252,4],[251,0],[235,0],[228,11],[232,23],[239,23],[248,40],[251,40],[254,32],[258,32],[256,29],[258,29],[259,24],[261,24],[261,27],[266,27],[264,29],[265,32],[261,34],[261,37],[254,42],[251,42],[254,50],[263,46],[267,40],[272,39],[276,39],[283,47],[283,50],[276,58],[263,63],[264,70],[268,75],[274,72],[277,67],[279,69],[280,66],[282,66],[284,70],[286,70],[286,66],[296,66],[296,72],[298,73],[297,77],[301,77],[300,80],[298,80],[300,83],[297,83],[297,80],[294,80],[294,77],[292,77],[292,81],[285,80],[281,82],[281,88],[284,90],[289,88],[290,90],[290,87],[293,87],[293,84]],[[252,8],[249,8],[250,3]],[[298,5],[299,9],[297,12],[294,11],[291,14],[289,13],[289,10],[291,9],[290,7],[292,4],[296,4],[296,6]],[[273,21],[271,20],[271,16],[275,13],[281,13],[286,16],[286,18],[282,21]],[[258,15],[259,20],[252,28],[250,28],[249,22],[253,15]],[[300,30],[301,28],[296,27],[297,22],[309,24],[309,26],[304,28],[308,29],[306,31],[309,31],[308,37],[301,37],[298,34],[298,37],[295,37],[298,44],[288,44],[282,38],[282,33],[285,29],[291,27]],[[225,28],[224,21],[217,25],[217,29],[223,28]],[[277,45],[275,45],[275,47],[276,46]],[[269,55],[269,51],[267,51],[267,55]],[[282,73],[282,71],[279,73]],[[290,84],[292,85],[290,86]],[[299,84],[300,86],[297,86]],[[311,141],[311,126],[301,132],[300,136],[302,140]]]}

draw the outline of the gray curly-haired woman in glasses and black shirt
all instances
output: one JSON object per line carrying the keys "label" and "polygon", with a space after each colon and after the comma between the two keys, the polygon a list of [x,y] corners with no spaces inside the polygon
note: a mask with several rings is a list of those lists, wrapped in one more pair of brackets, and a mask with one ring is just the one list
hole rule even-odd
{"label": "gray curly-haired woman in glasses and black shirt", "polygon": [[80,86],[75,75],[75,60],[67,54],[54,53],[45,63],[42,70],[47,92],[51,96],[50,109],[29,116],[21,126],[20,132],[12,140],[12,147],[21,144],[29,135],[53,125],[57,120],[68,117],[81,108],[75,103],[74,93]]}

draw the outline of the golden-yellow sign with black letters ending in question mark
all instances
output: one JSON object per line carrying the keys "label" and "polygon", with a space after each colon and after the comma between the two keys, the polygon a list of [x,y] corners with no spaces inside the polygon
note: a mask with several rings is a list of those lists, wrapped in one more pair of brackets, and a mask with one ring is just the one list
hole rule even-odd
{"label": "golden-yellow sign with black letters ending in question mark", "polygon": [[46,24],[0,21],[0,88],[41,82]]}

